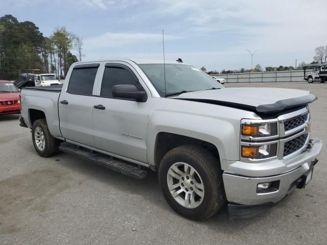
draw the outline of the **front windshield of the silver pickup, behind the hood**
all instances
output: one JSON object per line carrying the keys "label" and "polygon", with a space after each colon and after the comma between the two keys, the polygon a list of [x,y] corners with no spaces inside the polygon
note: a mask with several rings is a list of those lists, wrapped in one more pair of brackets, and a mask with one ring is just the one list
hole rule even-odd
{"label": "front windshield of the silver pickup, behind the hood", "polygon": [[192,65],[179,64],[139,64],[160,96],[166,94],[224,88],[219,82]]}

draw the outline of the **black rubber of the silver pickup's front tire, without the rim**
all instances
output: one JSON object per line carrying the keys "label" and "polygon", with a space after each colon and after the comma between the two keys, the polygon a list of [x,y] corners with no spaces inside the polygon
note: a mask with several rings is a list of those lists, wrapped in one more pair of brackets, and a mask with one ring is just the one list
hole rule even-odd
{"label": "black rubber of the silver pickup's front tire, without the rim", "polygon": [[[176,162],[188,163],[202,179],[204,197],[198,207],[186,208],[172,197],[167,174],[169,168]],[[226,201],[219,165],[219,159],[196,145],[182,145],[169,151],[159,166],[159,185],[168,204],[178,214],[193,220],[207,219],[217,213]]]}

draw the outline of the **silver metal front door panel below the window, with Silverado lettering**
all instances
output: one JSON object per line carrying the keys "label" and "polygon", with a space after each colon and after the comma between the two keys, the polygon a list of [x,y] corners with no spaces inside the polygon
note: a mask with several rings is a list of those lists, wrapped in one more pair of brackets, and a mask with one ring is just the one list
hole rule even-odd
{"label": "silver metal front door panel below the window, with Silverado lettering", "polygon": [[94,105],[105,110],[93,109],[93,134],[95,148],[147,162],[147,120],[146,103],[95,97]]}

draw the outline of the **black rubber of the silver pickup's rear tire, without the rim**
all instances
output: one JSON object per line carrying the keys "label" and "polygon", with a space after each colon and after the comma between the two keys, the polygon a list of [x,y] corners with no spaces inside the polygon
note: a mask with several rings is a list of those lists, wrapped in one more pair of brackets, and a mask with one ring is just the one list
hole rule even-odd
{"label": "black rubber of the silver pickup's rear tire, without the rim", "polygon": [[[44,135],[44,149],[40,150],[35,142],[35,129],[39,127]],[[58,147],[60,144],[60,141],[58,139],[55,139],[49,132],[48,125],[46,124],[45,119],[38,119],[34,121],[33,127],[32,127],[32,141],[35,148],[35,151],[41,156],[41,157],[50,157],[58,153]]]}

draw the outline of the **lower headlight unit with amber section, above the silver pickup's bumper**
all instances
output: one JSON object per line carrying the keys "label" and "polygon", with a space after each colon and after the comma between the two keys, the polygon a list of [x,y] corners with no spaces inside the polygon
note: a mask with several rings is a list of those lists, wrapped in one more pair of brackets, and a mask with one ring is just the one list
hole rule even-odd
{"label": "lower headlight unit with amber section, above the silver pickup's bumper", "polygon": [[243,158],[265,159],[276,156],[277,143],[262,144],[255,146],[242,145],[241,153]]}

